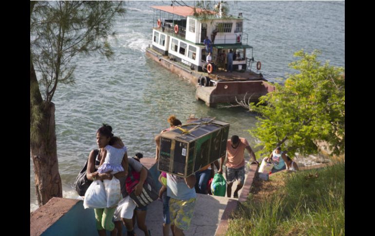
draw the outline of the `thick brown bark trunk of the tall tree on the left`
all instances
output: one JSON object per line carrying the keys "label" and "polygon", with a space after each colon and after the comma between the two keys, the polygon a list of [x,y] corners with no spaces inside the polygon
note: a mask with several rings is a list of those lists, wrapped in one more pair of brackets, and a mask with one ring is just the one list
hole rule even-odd
{"label": "thick brown bark trunk of the tall tree on the left", "polygon": [[55,104],[44,104],[42,113],[43,118],[39,125],[40,141],[30,142],[39,206],[53,197],[62,197],[56,151]]}

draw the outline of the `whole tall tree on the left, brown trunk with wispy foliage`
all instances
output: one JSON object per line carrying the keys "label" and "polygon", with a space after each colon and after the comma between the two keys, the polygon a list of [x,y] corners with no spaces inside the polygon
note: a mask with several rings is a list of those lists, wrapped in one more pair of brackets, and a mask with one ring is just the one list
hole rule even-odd
{"label": "whole tall tree on the left, brown trunk with wispy foliage", "polygon": [[39,206],[62,197],[52,102],[57,85],[74,83],[76,55],[111,58],[107,38],[115,16],[124,13],[122,2],[30,1],[30,149]]}

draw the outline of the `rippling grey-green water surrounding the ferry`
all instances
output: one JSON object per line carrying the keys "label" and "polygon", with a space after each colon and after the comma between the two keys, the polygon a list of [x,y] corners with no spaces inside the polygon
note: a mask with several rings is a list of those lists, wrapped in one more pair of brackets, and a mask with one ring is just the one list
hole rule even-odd
{"label": "rippling grey-green water surrounding the ferry", "polygon": [[[345,65],[344,1],[228,3],[230,14],[237,16],[241,11],[247,19],[244,32],[248,44],[254,47],[255,60],[262,61],[262,71],[271,82],[282,83],[284,78],[276,78],[294,73],[288,63],[296,59],[293,53],[301,48],[320,49],[321,61]],[[109,37],[114,58],[77,57],[73,60],[77,65],[75,85],[58,85],[53,102],[64,196],[75,198],[72,184],[90,150],[96,148],[95,132],[103,122],[124,140],[130,157],[136,152],[143,152],[145,157],[155,155],[154,135],[169,126],[170,114],[181,121],[191,113],[217,117],[230,123],[229,136],[245,137],[251,146],[258,142],[247,132],[256,123],[254,114],[240,108],[207,108],[204,102],[195,101],[193,86],[145,56],[151,44],[151,5],[154,2],[127,2],[125,17],[114,24],[116,38]],[[250,50],[247,56],[251,57]],[[37,206],[30,159],[30,211]]]}

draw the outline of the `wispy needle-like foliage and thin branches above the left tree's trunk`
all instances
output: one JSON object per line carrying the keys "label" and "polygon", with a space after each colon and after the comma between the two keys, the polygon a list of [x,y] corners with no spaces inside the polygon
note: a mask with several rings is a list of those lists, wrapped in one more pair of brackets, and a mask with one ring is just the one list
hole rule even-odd
{"label": "wispy needle-like foliage and thin branches above the left tree's trunk", "polygon": [[37,1],[30,4],[32,63],[41,74],[44,101],[52,101],[57,83],[73,83],[78,54],[99,53],[107,58],[113,51],[107,41],[113,35],[116,15],[125,9],[114,1]]}

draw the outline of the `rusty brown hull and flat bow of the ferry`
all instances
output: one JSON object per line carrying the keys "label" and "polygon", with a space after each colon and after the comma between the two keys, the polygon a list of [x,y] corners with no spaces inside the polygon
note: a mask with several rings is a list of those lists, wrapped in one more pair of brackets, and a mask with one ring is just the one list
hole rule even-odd
{"label": "rusty brown hull and flat bow of the ferry", "polygon": [[150,47],[146,49],[146,55],[193,84],[196,87],[195,98],[204,101],[208,107],[220,103],[236,103],[244,99],[257,102],[259,97],[275,90],[275,86],[268,83],[262,74],[250,71],[229,73],[220,70],[208,74],[191,70]]}

